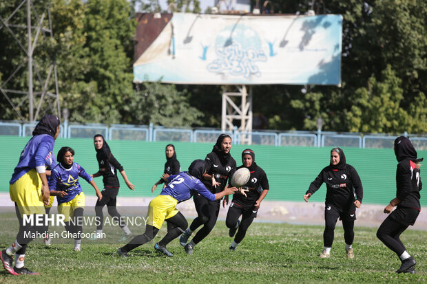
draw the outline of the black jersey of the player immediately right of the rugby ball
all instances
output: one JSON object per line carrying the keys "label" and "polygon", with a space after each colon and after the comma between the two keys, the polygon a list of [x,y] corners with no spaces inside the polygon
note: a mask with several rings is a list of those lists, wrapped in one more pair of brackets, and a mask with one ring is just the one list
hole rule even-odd
{"label": "black jersey of the player immediately right of the rugby ball", "polygon": [[[239,166],[238,169],[239,168],[244,168],[244,166]],[[247,197],[236,193],[233,195],[232,202],[239,204],[244,208],[253,208],[258,198],[260,198],[262,190],[269,189],[269,179],[267,179],[267,175],[260,166],[256,165],[255,169],[251,171],[249,182],[244,184],[244,187],[249,189],[246,193]]]}

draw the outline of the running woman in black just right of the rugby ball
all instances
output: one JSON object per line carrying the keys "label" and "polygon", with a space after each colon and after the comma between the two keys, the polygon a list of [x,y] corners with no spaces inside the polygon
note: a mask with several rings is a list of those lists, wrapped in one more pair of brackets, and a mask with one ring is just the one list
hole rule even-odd
{"label": "running woman in black just right of the rugby ball", "polygon": [[[229,236],[234,237],[236,230],[238,232],[234,241],[230,246],[230,250],[236,250],[238,244],[246,235],[246,231],[251,226],[253,219],[256,218],[261,201],[269,192],[269,179],[264,170],[255,162],[255,153],[251,149],[246,149],[242,152],[242,166],[239,168],[248,168],[251,172],[249,182],[244,184],[243,189],[248,190],[246,196],[242,194],[233,195],[225,225],[230,228]],[[242,215],[242,221],[239,217]]]}

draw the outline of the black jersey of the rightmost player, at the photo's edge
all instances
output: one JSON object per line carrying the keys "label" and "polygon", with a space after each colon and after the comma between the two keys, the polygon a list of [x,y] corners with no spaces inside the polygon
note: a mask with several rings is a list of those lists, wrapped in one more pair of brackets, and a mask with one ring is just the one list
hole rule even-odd
{"label": "black jersey of the rightmost player, at the photo's edge", "polygon": [[415,162],[405,159],[397,164],[396,197],[401,201],[397,207],[417,208],[420,210],[419,190],[422,188],[419,168]]}

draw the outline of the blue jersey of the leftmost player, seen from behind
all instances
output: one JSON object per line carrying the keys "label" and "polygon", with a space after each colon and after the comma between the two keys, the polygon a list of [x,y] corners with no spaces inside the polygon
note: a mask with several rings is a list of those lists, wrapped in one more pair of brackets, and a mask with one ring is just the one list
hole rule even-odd
{"label": "blue jersey of the leftmost player, seen from behind", "polygon": [[[10,184],[14,184],[25,173],[28,173],[32,168],[37,168],[37,172],[43,173],[45,171],[45,158],[49,153],[52,153],[55,140],[48,134],[41,134],[33,136],[30,141],[25,145],[21,152],[19,162],[14,169]],[[41,171],[43,168],[43,171]]]}

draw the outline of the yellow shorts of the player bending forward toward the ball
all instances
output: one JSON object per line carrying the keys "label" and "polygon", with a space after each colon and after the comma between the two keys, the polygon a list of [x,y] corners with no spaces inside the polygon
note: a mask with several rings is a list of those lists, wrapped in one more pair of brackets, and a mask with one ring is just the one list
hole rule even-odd
{"label": "yellow shorts of the player bending forward toward the ball", "polygon": [[147,224],[160,230],[165,219],[174,217],[179,211],[176,210],[178,200],[170,195],[158,195],[148,205]]}

